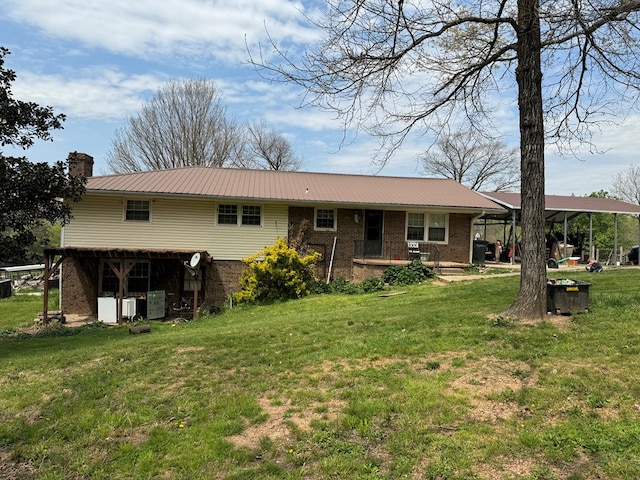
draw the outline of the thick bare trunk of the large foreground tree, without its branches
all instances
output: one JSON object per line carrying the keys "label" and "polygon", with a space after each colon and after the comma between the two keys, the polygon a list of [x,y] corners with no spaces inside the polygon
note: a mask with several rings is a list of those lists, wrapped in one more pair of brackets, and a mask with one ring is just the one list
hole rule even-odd
{"label": "thick bare trunk of the large foreground tree, without its branches", "polygon": [[547,305],[539,7],[539,0],[518,0],[522,270],[520,293],[506,313],[527,319],[542,319]]}

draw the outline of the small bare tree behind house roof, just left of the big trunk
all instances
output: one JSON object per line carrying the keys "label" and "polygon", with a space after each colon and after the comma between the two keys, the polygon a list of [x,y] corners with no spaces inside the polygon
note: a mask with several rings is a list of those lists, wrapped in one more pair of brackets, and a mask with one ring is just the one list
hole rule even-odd
{"label": "small bare tree behind house roof, just left of the big trunk", "polygon": [[472,190],[509,191],[520,184],[517,150],[473,129],[441,136],[420,159],[428,176],[451,178]]}

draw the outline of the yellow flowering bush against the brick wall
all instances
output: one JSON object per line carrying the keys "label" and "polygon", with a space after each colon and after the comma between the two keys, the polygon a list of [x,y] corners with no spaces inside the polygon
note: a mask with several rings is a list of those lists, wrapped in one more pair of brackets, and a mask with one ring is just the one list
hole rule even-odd
{"label": "yellow flowering bush against the brick wall", "polygon": [[233,300],[253,303],[308,295],[314,281],[313,265],[320,257],[318,252],[300,256],[278,238],[274,245],[242,260],[248,268],[242,272],[241,290],[233,294]]}

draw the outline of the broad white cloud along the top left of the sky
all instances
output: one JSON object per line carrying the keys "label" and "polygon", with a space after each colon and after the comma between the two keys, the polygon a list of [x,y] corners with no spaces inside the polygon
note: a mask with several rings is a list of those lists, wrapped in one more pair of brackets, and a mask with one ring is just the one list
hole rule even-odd
{"label": "broad white cloud along the top left of the sky", "polygon": [[5,0],[6,17],[47,35],[137,58],[164,55],[233,60],[266,39],[308,43],[299,2],[287,0]]}

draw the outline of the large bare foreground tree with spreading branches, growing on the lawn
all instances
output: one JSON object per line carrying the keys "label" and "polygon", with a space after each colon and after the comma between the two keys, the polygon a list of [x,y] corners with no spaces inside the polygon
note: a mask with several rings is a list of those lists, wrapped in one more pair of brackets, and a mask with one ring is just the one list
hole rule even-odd
{"label": "large bare foreground tree with spreading branches, growing on the lawn", "polygon": [[311,20],[323,39],[301,60],[274,43],[274,60],[269,53],[253,62],[304,87],[305,102],[379,135],[383,162],[414,129],[424,133],[460,115],[478,128],[491,122],[489,95],[512,91],[515,78],[523,254],[520,292],[506,313],[543,318],[545,139],[570,149],[573,140],[588,141],[594,123],[617,107],[638,106],[640,0],[327,0],[327,6]]}

